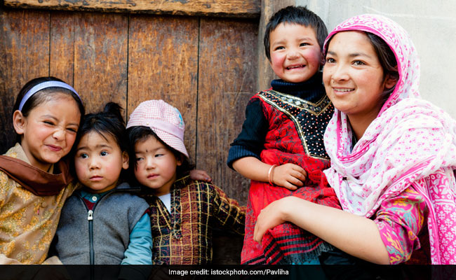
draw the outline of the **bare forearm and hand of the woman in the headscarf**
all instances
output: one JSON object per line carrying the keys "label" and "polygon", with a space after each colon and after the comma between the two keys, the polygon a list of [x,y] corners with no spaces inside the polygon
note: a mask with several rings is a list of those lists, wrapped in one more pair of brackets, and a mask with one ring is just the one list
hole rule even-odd
{"label": "bare forearm and hand of the woman in the headscarf", "polygon": [[284,197],[264,208],[253,239],[261,241],[264,232],[286,221],[357,258],[389,265],[387,248],[374,221],[297,197]]}

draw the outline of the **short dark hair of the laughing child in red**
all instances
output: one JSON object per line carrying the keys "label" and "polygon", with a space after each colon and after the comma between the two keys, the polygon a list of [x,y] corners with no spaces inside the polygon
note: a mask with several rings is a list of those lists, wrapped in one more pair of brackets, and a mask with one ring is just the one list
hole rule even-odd
{"label": "short dark hair of the laughing child in red", "polygon": [[274,13],[274,15],[269,18],[266,30],[264,30],[263,43],[267,59],[271,60],[271,53],[269,52],[269,48],[271,47],[269,35],[283,22],[304,25],[305,27],[311,26],[315,30],[318,45],[320,45],[321,50],[323,50],[323,43],[325,43],[326,36],[328,36],[328,29],[326,29],[323,20],[305,6],[288,6]]}

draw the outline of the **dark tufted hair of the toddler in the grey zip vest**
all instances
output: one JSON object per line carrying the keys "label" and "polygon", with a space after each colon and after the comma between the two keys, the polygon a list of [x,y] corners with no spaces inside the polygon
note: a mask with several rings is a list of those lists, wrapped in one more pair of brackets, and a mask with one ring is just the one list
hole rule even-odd
{"label": "dark tufted hair of the toddler in the grey zip vest", "polygon": [[84,135],[90,132],[97,132],[105,139],[106,134],[111,135],[116,141],[116,144],[119,145],[121,151],[128,152],[128,137],[126,136],[125,121],[123,120],[121,112],[122,108],[119,104],[109,102],[105,105],[103,111],[89,113],[84,116],[76,135],[76,141],[74,141],[75,144],[71,153],[73,158],[74,155],[76,155],[79,141],[81,141],[81,138]]}

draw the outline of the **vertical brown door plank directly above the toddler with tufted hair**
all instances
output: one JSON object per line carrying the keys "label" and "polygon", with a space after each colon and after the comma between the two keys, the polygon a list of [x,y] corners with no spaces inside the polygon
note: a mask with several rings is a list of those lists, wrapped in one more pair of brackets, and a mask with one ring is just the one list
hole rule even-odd
{"label": "vertical brown door plank directly above the toddler with tufted hair", "polygon": [[74,88],[86,112],[107,102],[126,108],[128,15],[78,13],[74,20]]}

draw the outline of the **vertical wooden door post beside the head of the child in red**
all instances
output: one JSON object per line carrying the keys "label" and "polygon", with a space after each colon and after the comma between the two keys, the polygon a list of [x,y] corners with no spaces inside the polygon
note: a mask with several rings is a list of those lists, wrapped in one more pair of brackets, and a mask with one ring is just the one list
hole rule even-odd
{"label": "vertical wooden door post beside the head of the child in red", "polygon": [[264,54],[263,38],[267,22],[269,22],[269,18],[271,18],[276,11],[290,5],[296,5],[296,0],[262,0],[261,2],[260,28],[258,29],[257,91],[267,90],[271,87],[271,80],[277,78],[269,65],[269,59],[267,59]]}

